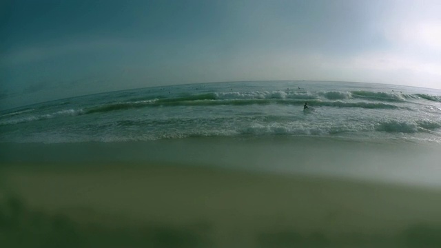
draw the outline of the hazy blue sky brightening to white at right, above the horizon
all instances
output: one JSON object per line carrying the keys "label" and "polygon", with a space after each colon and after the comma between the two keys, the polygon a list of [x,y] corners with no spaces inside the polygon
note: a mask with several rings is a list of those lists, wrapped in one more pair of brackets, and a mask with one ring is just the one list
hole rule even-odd
{"label": "hazy blue sky brightening to white at right, above the horizon", "polygon": [[441,0],[0,1],[0,109],[137,87],[441,88]]}

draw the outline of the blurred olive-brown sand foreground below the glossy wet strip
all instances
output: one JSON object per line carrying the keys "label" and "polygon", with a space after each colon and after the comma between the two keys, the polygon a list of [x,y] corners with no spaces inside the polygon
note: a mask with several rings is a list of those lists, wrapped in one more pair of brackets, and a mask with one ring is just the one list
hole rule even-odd
{"label": "blurred olive-brown sand foreground below the glossy wet strip", "polygon": [[441,247],[441,189],[184,165],[3,165],[0,197],[1,247]]}

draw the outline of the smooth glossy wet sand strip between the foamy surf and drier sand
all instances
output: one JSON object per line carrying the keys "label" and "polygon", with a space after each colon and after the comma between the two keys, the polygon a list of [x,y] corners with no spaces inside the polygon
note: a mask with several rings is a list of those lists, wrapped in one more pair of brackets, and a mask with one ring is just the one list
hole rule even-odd
{"label": "smooth glossy wet sand strip between the foamy surf and drier sand", "polygon": [[441,144],[322,137],[194,137],[123,143],[0,143],[0,163],[198,165],[441,188]]}

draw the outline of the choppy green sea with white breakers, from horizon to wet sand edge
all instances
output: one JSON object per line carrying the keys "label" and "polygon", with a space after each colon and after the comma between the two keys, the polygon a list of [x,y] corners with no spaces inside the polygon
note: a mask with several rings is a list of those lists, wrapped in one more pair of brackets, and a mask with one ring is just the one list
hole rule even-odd
{"label": "choppy green sea with white breakers, from horizon to wet sand edge", "polygon": [[[314,111],[303,111],[308,103]],[[147,87],[0,112],[2,143],[317,136],[441,142],[441,91],[326,81]]]}

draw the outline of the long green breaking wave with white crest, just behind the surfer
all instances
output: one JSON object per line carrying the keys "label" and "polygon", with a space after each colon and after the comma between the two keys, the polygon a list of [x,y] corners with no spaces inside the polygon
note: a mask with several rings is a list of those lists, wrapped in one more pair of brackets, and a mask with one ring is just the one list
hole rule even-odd
{"label": "long green breaking wave with white crest, just behind the surfer", "polygon": [[[350,99],[352,92],[290,92],[290,91],[255,91],[255,92],[217,92],[207,94],[184,95],[178,97],[161,97],[141,101],[122,101],[116,103],[104,103],[77,110],[65,109],[50,114],[38,114],[34,109],[25,109],[8,114],[3,114],[0,125],[11,125],[30,121],[39,121],[57,116],[72,116],[81,114],[96,114],[121,110],[132,110],[142,107],[172,107],[172,106],[215,106],[215,105],[303,105],[305,101],[311,107],[359,107],[365,109],[402,109],[398,105],[378,102],[353,102],[342,101]],[[332,99],[329,101],[329,99]],[[65,102],[61,105],[66,105]],[[404,107],[406,108],[406,107]],[[407,108],[406,108],[407,109]],[[31,115],[30,115],[31,114]]]}

